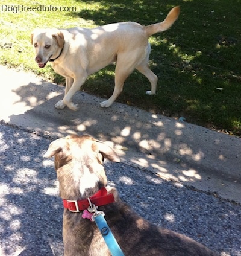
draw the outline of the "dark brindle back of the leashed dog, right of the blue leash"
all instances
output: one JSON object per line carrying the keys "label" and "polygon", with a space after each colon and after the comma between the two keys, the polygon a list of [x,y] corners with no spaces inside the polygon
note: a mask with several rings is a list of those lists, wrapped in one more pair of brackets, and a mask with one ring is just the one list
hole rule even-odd
{"label": "dark brindle back of the leashed dog, right of the blue leash", "polygon": [[[111,193],[116,194],[114,190],[112,188]],[[103,206],[100,210],[104,211],[105,219],[126,256],[218,255],[185,235],[148,222],[119,197],[116,198],[115,203]],[[98,255],[97,251],[96,255]]]}

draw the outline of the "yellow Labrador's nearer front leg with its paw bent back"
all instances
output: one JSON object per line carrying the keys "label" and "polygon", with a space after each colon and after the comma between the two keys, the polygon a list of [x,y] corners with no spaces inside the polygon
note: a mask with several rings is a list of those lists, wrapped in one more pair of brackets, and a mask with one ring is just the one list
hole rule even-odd
{"label": "yellow Labrador's nearer front leg with its paw bent back", "polygon": [[[81,75],[81,77],[77,77],[72,79],[72,81],[74,81],[72,83],[72,86],[70,86],[70,88],[66,88],[67,93],[64,95],[63,98],[63,104],[67,107],[69,107],[69,109],[76,111],[78,109],[78,104],[74,104],[72,103],[72,97],[74,96],[75,92],[77,92],[81,86],[83,85],[83,83],[86,81],[87,78],[87,74]],[[57,103],[58,104],[58,103]],[[56,105],[55,105],[56,107]]]}

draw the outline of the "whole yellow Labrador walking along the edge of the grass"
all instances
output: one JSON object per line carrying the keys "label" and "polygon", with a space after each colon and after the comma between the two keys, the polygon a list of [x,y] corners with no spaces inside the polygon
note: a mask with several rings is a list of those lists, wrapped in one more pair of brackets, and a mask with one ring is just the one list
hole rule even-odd
{"label": "whole yellow Labrador walking along the edge of the grass", "polygon": [[155,94],[157,75],[148,66],[151,51],[148,38],[170,28],[179,13],[180,8],[174,7],[163,22],[149,26],[121,22],[93,29],[76,27],[67,30],[34,30],[31,42],[39,67],[44,68],[47,62],[51,62],[54,71],[66,78],[64,98],[55,107],[63,109],[67,106],[77,110],[77,104],[72,103],[75,92],[81,88],[88,75],[113,62],[116,62],[114,92],[101,103],[101,107],[111,106],[134,69],[145,75],[151,83],[151,91],[146,93]]}

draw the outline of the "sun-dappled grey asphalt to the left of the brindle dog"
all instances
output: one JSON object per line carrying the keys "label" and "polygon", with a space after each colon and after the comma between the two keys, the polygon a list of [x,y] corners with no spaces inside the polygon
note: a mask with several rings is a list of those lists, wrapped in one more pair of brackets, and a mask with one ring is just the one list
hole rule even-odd
{"label": "sun-dappled grey asphalt to the left of the brindle dog", "polygon": [[43,162],[46,144],[14,128],[0,136],[1,255],[63,255],[63,209],[52,162]]}

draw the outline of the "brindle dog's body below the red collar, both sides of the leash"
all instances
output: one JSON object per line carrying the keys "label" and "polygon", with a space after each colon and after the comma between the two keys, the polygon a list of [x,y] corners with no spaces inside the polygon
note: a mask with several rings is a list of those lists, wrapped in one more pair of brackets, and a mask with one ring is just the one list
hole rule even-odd
{"label": "brindle dog's body below the red collar, both sides of the leash", "polygon": [[[116,196],[116,202],[99,207],[104,211],[125,256],[217,256],[195,240],[163,229],[137,215]],[[72,227],[72,228],[70,228]],[[83,219],[81,213],[64,210],[63,235],[65,255],[111,255],[95,222]],[[78,253],[77,253],[78,252]]]}

